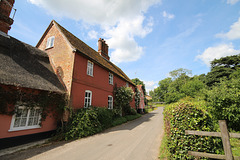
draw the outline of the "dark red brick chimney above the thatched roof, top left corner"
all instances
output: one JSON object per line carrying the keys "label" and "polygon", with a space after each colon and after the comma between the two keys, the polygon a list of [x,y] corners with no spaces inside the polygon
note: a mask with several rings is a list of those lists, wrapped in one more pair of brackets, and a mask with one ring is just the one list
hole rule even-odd
{"label": "dark red brick chimney above the thatched roof, top left corner", "polygon": [[15,0],[0,0],[0,31],[8,33],[13,24],[13,19],[10,18],[10,13]]}

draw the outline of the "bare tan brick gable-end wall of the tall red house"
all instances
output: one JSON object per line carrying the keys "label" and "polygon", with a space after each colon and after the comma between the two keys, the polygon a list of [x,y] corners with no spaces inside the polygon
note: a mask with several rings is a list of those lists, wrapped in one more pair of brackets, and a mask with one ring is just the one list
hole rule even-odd
{"label": "bare tan brick gable-end wall of the tall red house", "polygon": [[[54,46],[46,49],[47,39],[51,36],[55,36]],[[47,52],[55,73],[58,77],[61,77],[60,80],[65,85],[67,93],[70,96],[74,62],[74,54],[71,45],[57,29],[57,26],[54,23],[50,26],[39,44],[40,45],[37,46],[37,48]]]}

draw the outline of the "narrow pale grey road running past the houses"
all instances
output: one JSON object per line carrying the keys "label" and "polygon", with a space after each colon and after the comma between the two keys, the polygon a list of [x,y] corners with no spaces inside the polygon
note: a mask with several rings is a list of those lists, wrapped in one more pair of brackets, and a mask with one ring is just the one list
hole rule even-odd
{"label": "narrow pale grey road running past the houses", "polygon": [[163,107],[95,136],[39,146],[0,159],[156,160],[163,136]]}

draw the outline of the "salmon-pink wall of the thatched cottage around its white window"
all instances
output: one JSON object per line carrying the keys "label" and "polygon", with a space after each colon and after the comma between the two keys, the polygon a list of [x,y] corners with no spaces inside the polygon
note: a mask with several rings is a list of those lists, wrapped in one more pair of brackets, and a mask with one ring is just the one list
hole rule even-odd
{"label": "salmon-pink wall of the thatched cottage around its white window", "polygon": [[[9,91],[9,92],[11,90],[16,89],[16,87],[14,87],[14,86],[0,85],[0,87],[2,87],[4,90]],[[40,92],[39,90],[20,88],[20,87],[18,87],[17,89],[18,89],[18,91],[21,91],[22,93],[31,93],[31,94],[35,94],[35,95],[37,95]],[[9,107],[9,108],[14,108],[14,106]],[[9,131],[10,126],[11,126],[11,121],[12,121],[12,115],[0,114],[0,126],[1,126],[0,139],[52,131],[52,130],[55,130],[57,127],[57,120],[51,113],[48,114],[48,116],[46,117],[46,119],[44,121],[42,121],[41,128],[27,129],[27,130],[20,130],[20,131]]]}

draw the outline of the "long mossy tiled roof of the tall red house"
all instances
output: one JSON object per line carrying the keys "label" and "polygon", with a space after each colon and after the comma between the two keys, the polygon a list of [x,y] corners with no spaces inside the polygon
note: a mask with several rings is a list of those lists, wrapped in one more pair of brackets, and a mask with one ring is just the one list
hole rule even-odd
{"label": "long mossy tiled roof of the tall red house", "polygon": [[[108,71],[115,73],[115,75],[119,76],[120,78],[124,79],[125,81],[127,81],[135,86],[135,84],[131,81],[131,79],[119,67],[117,67],[115,64],[113,64],[111,61],[103,58],[97,51],[95,51],[94,49],[89,47],[86,43],[84,43],[79,38],[74,36],[72,33],[70,33],[68,30],[66,30],[64,27],[62,27],[56,21],[53,20],[50,23],[48,29],[53,24],[55,24],[57,26],[57,28],[60,30],[60,32],[66,37],[66,39],[70,43],[72,49],[76,50],[76,53],[78,53],[82,56],[86,56],[90,60],[94,61],[94,63],[97,63],[98,65],[107,69]],[[48,29],[46,30],[46,32],[48,31]],[[38,42],[37,47],[42,42],[46,32],[43,34],[43,37]]]}

